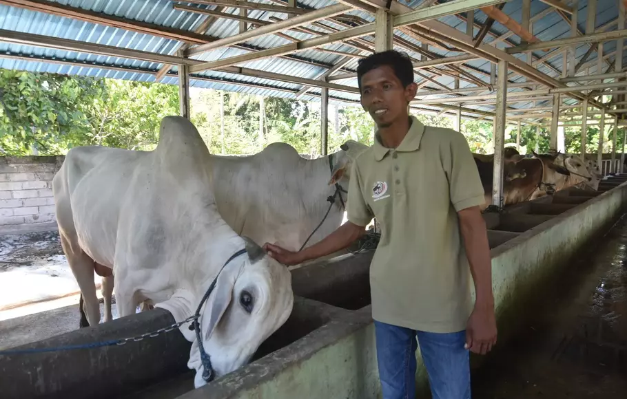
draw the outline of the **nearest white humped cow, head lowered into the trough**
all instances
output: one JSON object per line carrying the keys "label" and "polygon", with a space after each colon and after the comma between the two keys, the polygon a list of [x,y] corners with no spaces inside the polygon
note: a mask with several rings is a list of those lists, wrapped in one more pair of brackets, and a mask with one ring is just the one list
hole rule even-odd
{"label": "nearest white humped cow, head lowered into the trough", "polygon": [[[90,325],[100,320],[94,261],[113,270],[121,316],[145,301],[183,321],[217,277],[199,322],[220,376],[247,363],[285,323],[294,294],[289,270],[220,217],[208,158],[194,125],[169,116],[154,151],[72,149],[52,184],[61,244]],[[193,343],[187,365],[196,369],[199,387],[203,365],[188,327],[180,330]]]}

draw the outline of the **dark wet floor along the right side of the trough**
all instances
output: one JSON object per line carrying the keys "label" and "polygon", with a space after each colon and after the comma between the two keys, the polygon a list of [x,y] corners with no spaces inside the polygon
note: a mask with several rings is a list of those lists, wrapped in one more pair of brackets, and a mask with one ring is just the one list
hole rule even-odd
{"label": "dark wet floor along the right side of the trough", "polygon": [[473,372],[473,398],[627,398],[627,216],[565,274]]}

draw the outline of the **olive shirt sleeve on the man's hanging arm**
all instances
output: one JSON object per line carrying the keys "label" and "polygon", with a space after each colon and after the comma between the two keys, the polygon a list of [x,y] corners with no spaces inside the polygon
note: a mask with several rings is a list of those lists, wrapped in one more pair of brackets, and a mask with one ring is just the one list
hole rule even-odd
{"label": "olive shirt sleeve on the man's hanging arm", "polygon": [[473,158],[473,153],[466,138],[457,131],[451,134],[449,151],[444,163],[449,176],[449,193],[455,211],[470,208],[485,203],[484,189],[479,171]]}

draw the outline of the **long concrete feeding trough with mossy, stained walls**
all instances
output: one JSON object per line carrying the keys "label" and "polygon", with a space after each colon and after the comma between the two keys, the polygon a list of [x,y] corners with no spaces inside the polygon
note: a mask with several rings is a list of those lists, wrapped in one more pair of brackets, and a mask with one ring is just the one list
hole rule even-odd
{"label": "long concrete feeding trough with mossy, stained walls", "polygon": [[[576,200],[568,202],[568,197]],[[528,297],[559,275],[626,204],[627,184],[620,184],[605,193],[569,190],[502,215],[485,215],[500,345],[515,321],[520,323],[516,319]],[[186,367],[189,343],[170,332],[121,347],[0,358],[2,398],[378,398],[372,256],[342,255],[292,270],[296,300],[285,325],[260,346],[251,363],[200,389],[194,389],[193,371]],[[153,310],[23,347],[103,341],[172,322],[167,312]],[[416,356],[418,387],[424,391],[426,371]]]}

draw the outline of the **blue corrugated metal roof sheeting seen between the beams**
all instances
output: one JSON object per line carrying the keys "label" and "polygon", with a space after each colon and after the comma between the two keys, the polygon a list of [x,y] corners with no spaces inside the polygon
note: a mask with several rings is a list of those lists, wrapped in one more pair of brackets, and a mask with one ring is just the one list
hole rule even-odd
{"label": "blue corrugated metal roof sheeting seen between the beams", "polygon": [[[76,8],[82,8],[84,10],[91,10],[94,12],[102,12],[111,16],[122,17],[128,20],[142,21],[145,23],[153,23],[161,25],[166,28],[176,28],[179,30],[193,31],[200,25],[205,15],[196,12],[188,12],[187,10],[175,10],[172,7],[173,2],[169,0],[118,0],[118,1],[106,1],[106,0],[57,0],[54,1],[63,5],[68,5]],[[276,2],[269,0],[260,0],[260,3],[275,4]],[[413,1],[400,1],[408,6],[415,8],[422,3],[422,0]],[[178,3],[178,2],[177,2]],[[301,8],[318,9],[325,6],[331,6],[336,4],[336,0],[302,0],[298,1],[298,6]],[[181,2],[186,6],[193,6],[197,8],[207,8],[214,10],[215,6],[204,6],[196,3]],[[539,12],[544,12],[550,6],[541,1],[531,2],[531,15]],[[508,1],[504,4],[503,9],[505,14],[516,21],[522,19],[522,0]],[[237,14],[236,8],[224,8],[222,12],[229,14]],[[586,14],[587,14],[587,1],[579,0],[577,21],[579,29],[585,29]],[[597,14],[595,17],[595,27],[599,28],[610,21],[617,18],[617,0],[598,0],[597,1]],[[368,12],[362,10],[353,10],[349,12],[350,15],[361,17],[365,21],[373,21],[374,18]],[[263,10],[248,10],[248,17],[253,19],[260,19],[263,21],[270,21],[270,17],[278,17],[285,19],[287,14],[281,12],[267,12]],[[448,17],[440,18],[439,21],[450,25],[451,27],[460,30],[460,32],[466,32],[466,23],[463,20],[465,14],[451,15]],[[475,10],[475,22],[482,24],[486,21],[487,16],[481,10]],[[324,22],[325,25],[336,28],[344,29],[346,25],[340,25],[338,23]],[[323,30],[316,25],[305,25],[310,30],[316,30],[322,32]],[[77,41],[85,41],[90,43],[98,43],[103,45],[112,45],[116,47],[124,47],[133,50],[142,50],[147,52],[154,52],[159,54],[172,55],[176,52],[179,41],[174,39],[165,39],[163,37],[153,36],[151,34],[143,34],[138,32],[130,32],[121,28],[112,28],[105,25],[99,25],[96,23],[89,23],[85,21],[79,21],[68,17],[59,17],[51,14],[45,14],[43,12],[35,12],[31,10],[25,10],[22,8],[15,8],[10,6],[0,6],[0,29],[13,30],[17,32],[28,32],[33,34],[44,34],[48,36],[59,37],[62,39],[72,39]],[[615,30],[614,25],[608,30]],[[233,36],[239,32],[239,22],[234,19],[217,19],[216,22],[209,28],[207,34],[216,38],[223,38],[227,36]],[[479,29],[475,27],[475,34],[479,32]],[[508,33],[508,29],[498,22],[493,24],[491,32],[496,36],[501,36]],[[567,23],[557,12],[545,12],[544,17],[537,19],[533,22],[533,33],[538,39],[542,41],[550,41],[554,39],[560,39],[569,37],[571,32],[570,23]],[[314,35],[303,32],[296,32],[289,30],[284,32],[294,39],[303,40],[314,37]],[[409,36],[397,30],[396,36],[404,41],[407,41],[409,45],[415,47],[420,46],[420,41],[413,36]],[[373,41],[373,36],[365,36],[362,39]],[[494,37],[489,34],[484,39],[485,43],[491,43],[494,41]],[[259,36],[251,41],[247,41],[245,46],[251,50],[258,50],[260,48],[271,48],[279,45],[285,45],[291,43],[291,41],[284,39],[276,35]],[[520,38],[516,35],[512,35],[508,39],[508,43],[511,45],[520,44]],[[356,50],[346,45],[345,43],[334,43],[333,45],[324,46],[327,49],[336,50],[340,52],[356,52]],[[497,47],[504,49],[508,47],[504,43],[498,43]],[[584,54],[588,51],[588,44],[577,45],[576,48],[576,62],[579,62]],[[408,50],[406,47],[395,45],[398,50],[406,51],[411,57],[420,59],[420,54],[413,50]],[[609,41],[604,44],[604,54],[609,54],[615,50],[615,41]],[[429,46],[429,51],[437,56],[449,57],[464,54],[461,52],[454,52],[444,50],[435,46]],[[224,58],[230,58],[239,54],[248,54],[249,50],[245,48],[226,47],[203,54],[194,56],[194,58],[203,61],[215,61]],[[367,53],[364,53],[367,54]],[[537,58],[548,54],[543,51],[533,52]],[[537,69],[549,76],[559,77],[555,69],[561,70],[562,60],[561,52],[555,52],[555,55],[548,59],[547,63],[537,66]],[[525,60],[524,54],[515,54],[516,58]],[[627,57],[627,52],[625,52]],[[597,57],[597,52],[593,52],[589,58],[590,73],[595,74],[596,63],[594,62]],[[286,74],[289,76],[298,76],[301,78],[316,79],[323,74],[327,67],[338,63],[344,56],[340,54],[333,54],[329,52],[322,52],[319,50],[306,50],[292,54],[287,57],[271,57],[263,58],[260,60],[249,61],[243,63],[240,66],[248,67],[252,69],[260,69],[267,72],[274,72],[277,74]],[[624,60],[625,63],[626,60]],[[354,70],[357,66],[357,59],[354,59],[346,65],[347,69]],[[68,65],[69,63],[82,63],[83,65]],[[468,67],[475,69],[473,76],[479,78],[485,83],[489,83],[490,63],[485,60],[469,61],[465,64]],[[127,58],[119,58],[112,56],[98,56],[93,54],[81,53],[81,52],[69,52],[63,50],[52,50],[41,47],[34,47],[30,45],[14,45],[0,42],[0,67],[7,69],[25,69],[30,71],[39,72],[54,72],[60,74],[76,74],[83,76],[100,76],[107,78],[119,78],[127,80],[141,80],[152,82],[154,81],[154,75],[162,67],[160,63],[152,63],[147,61],[135,61]],[[433,70],[433,69],[432,69]],[[465,68],[466,71],[471,69]],[[176,67],[172,69],[176,72]],[[421,73],[426,73],[422,70]],[[345,72],[338,72],[345,73]],[[580,74],[586,74],[586,71],[580,72]],[[453,76],[442,74],[442,76],[435,76],[428,74],[432,78],[435,78],[442,85],[447,87],[453,87]],[[202,78],[200,78],[202,77]],[[417,81],[421,81],[422,78],[417,76]],[[178,79],[173,74],[165,76],[162,80],[164,83],[177,84]],[[285,98],[295,98],[296,92],[302,88],[302,85],[295,83],[283,83],[276,80],[270,80],[265,78],[255,78],[250,76],[243,76],[240,74],[229,74],[218,71],[205,71],[198,76],[192,76],[191,84],[195,87],[207,87],[212,89],[222,89],[229,91],[240,91],[250,94],[259,94],[263,96],[278,96]],[[525,78],[517,76],[513,80],[513,83],[524,82]],[[357,87],[356,78],[347,80],[335,80],[333,83],[341,85],[349,85]],[[247,86],[250,85],[250,86]],[[460,88],[472,87],[473,84],[460,80]],[[438,85],[429,83],[426,87],[432,89],[442,89]],[[424,90],[421,89],[421,91]],[[312,89],[302,98],[305,100],[318,100],[316,96],[310,94],[319,94],[320,89]],[[358,94],[347,93],[343,91],[330,90],[330,94],[337,100],[358,101]],[[437,98],[446,98],[446,95],[432,96],[434,103],[437,103]],[[333,101],[333,100],[331,100]],[[531,107],[533,103],[519,103],[516,108]],[[475,107],[475,106],[473,106]],[[493,111],[495,108],[493,105],[483,105],[481,107],[476,106],[476,109],[482,109],[484,111]]]}

